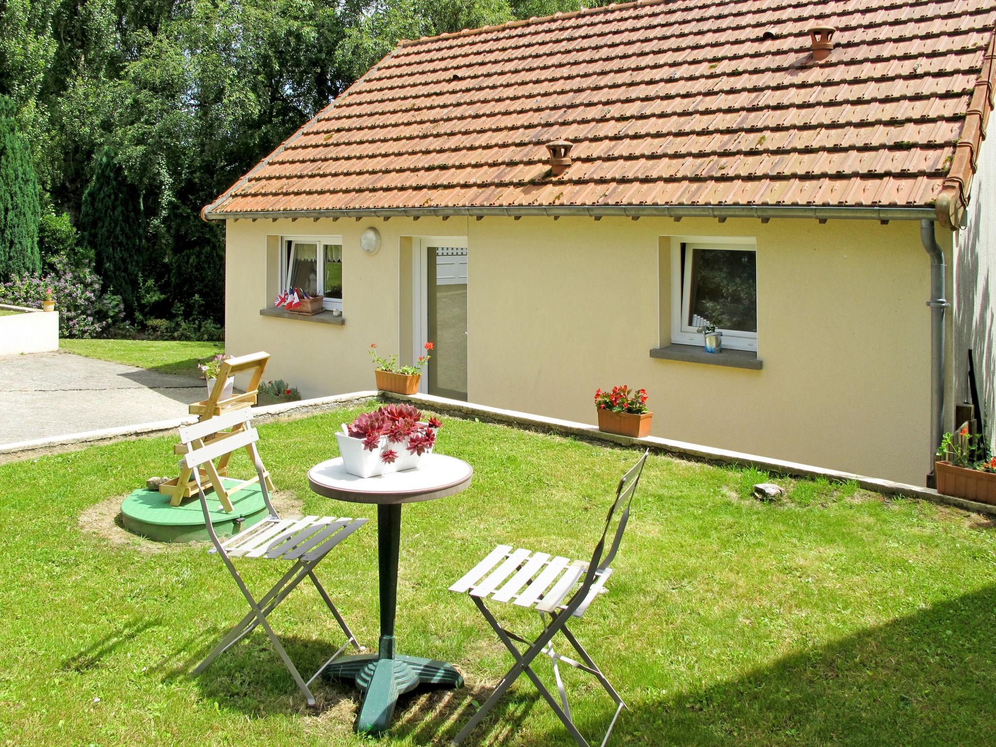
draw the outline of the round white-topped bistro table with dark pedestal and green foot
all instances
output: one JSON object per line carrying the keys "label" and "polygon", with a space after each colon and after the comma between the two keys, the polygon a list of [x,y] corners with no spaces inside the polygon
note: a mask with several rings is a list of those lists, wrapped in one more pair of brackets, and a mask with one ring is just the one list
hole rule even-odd
{"label": "round white-topped bistro table with dark pedestal and green foot", "polygon": [[308,472],[311,489],[327,498],[375,503],[377,565],[380,591],[380,640],[376,653],[343,656],[325,675],[352,680],[364,692],[356,731],[381,734],[390,725],[401,693],[420,684],[462,687],[463,677],[445,661],[402,656],[394,652],[394,613],[397,607],[397,559],[401,539],[401,505],[445,498],[470,485],[473,468],[462,459],[426,454],[414,469],[376,477],[346,471],[342,457],[316,464]]}

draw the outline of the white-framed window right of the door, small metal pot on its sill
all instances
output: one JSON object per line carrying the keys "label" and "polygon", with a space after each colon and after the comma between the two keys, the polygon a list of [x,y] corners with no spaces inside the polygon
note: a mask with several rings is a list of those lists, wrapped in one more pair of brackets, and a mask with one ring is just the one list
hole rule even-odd
{"label": "white-framed window right of the door, small metal pot on its sill", "polygon": [[715,325],[723,347],[757,350],[757,251],[752,240],[675,238],[671,250],[671,342],[704,345]]}

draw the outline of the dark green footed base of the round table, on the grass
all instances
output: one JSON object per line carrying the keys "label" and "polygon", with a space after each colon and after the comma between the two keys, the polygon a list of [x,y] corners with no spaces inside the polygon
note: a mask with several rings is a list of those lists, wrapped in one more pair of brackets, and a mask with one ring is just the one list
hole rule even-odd
{"label": "dark green footed base of the round table, on the grass", "polygon": [[343,656],[322,672],[324,677],[353,680],[364,693],[356,730],[361,734],[382,734],[390,726],[397,696],[420,684],[434,687],[462,687],[463,677],[452,664],[421,656],[380,658],[378,653]]}

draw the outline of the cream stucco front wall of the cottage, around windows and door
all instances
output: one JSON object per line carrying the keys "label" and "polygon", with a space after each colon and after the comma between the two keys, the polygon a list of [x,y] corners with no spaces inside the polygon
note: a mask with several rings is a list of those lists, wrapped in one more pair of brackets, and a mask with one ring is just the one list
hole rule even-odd
{"label": "cream stucco front wall of the cottage, around windows and door", "polygon": [[[359,248],[368,225],[383,237],[373,257]],[[260,317],[267,236],[280,234],[343,236],[345,326]],[[468,239],[472,401],[594,422],[595,389],[628,383],[649,391],[654,435],[922,484],[929,265],[916,222],[229,221],[228,352],[270,352],[267,376],[308,395],[370,388],[370,343],[398,349],[400,247],[440,235]],[[658,255],[671,235],[756,240],[761,371],[649,357],[669,341]]]}

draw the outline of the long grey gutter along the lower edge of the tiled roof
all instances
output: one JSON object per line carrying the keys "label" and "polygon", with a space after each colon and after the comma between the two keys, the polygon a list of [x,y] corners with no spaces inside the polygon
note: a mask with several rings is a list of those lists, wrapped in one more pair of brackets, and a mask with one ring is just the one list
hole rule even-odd
{"label": "long grey gutter along the lower edge of the tiled roof", "polygon": [[935,220],[933,207],[810,207],[805,205],[516,205],[511,207],[392,207],[345,210],[256,210],[243,212],[215,212],[221,202],[201,210],[204,220],[238,220],[248,218],[422,218],[474,216],[514,217],[523,216],[586,216],[593,218],[624,216],[670,218],[815,218],[818,220],[855,218],[864,220]]}

